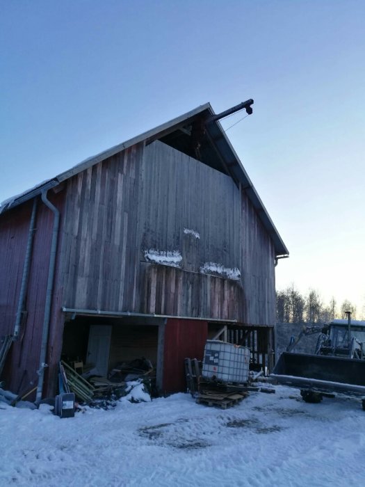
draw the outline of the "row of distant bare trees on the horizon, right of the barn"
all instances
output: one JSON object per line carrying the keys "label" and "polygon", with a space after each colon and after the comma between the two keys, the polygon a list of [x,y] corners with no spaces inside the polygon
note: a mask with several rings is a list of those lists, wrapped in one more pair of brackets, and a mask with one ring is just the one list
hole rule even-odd
{"label": "row of distant bare trees on the horizon, right of the barn", "polygon": [[347,299],[337,303],[332,297],[330,303],[323,303],[314,289],[303,296],[295,285],[276,293],[277,323],[326,323],[336,318],[346,319],[346,311],[351,312],[351,319],[357,319],[356,306]]}

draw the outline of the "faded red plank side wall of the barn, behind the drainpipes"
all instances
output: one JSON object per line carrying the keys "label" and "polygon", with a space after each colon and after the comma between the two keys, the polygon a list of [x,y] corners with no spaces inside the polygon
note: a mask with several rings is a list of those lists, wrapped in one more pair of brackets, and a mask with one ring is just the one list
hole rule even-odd
{"label": "faded red plank side wall of the barn, behind the drainpipes", "polygon": [[[64,205],[63,193],[61,191],[54,195],[49,191],[48,194],[49,200],[60,210],[61,215]],[[33,200],[6,211],[0,216],[0,269],[2,269],[0,278],[0,335],[13,334],[32,207]],[[6,367],[2,374],[2,378],[6,380],[6,388],[16,393],[23,393],[38,384],[37,369],[42,341],[53,223],[54,214],[39,200],[24,306],[26,315],[21,324],[19,339],[13,343],[10,349]],[[60,235],[61,230],[59,239]],[[50,363],[54,349],[58,353],[58,349],[60,349],[58,342],[62,340],[62,328],[60,329],[60,326],[63,317],[60,305],[56,304],[61,291],[57,284],[57,269],[58,263],[54,280],[54,300],[51,310],[47,363]],[[57,360],[59,360],[59,354]],[[44,392],[46,391],[47,380],[44,382]],[[29,399],[32,398],[33,396],[29,396]]]}

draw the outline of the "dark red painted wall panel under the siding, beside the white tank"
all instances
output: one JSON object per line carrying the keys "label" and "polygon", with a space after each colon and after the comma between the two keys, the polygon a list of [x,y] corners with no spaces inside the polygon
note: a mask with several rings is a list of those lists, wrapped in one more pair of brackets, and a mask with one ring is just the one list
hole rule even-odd
{"label": "dark red painted wall panel under the siding, beside the white tank", "polygon": [[163,352],[163,389],[186,390],[185,358],[202,360],[208,337],[208,322],[194,319],[168,319]]}

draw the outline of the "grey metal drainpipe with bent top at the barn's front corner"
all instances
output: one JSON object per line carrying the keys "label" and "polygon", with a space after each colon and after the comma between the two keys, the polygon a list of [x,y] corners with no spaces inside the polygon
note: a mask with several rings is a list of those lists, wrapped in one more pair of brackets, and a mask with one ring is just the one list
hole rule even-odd
{"label": "grey metal drainpipe with bent top at the barn's front corner", "polygon": [[54,271],[56,268],[56,252],[57,252],[57,240],[58,240],[58,228],[60,224],[60,212],[58,209],[52,205],[52,203],[47,200],[47,189],[42,191],[42,202],[44,205],[49,207],[54,213],[54,227],[52,231],[52,242],[51,242],[51,255],[49,257],[49,267],[48,267],[48,281],[47,281],[47,292],[46,292],[46,302],[44,304],[44,321],[43,321],[43,332],[42,332],[42,344],[40,347],[40,367],[38,369],[38,387],[37,394],[35,397],[35,402],[39,403],[42,399],[43,392],[43,380],[44,380],[44,367],[47,367],[45,363],[47,356],[47,342],[48,342],[48,332],[49,332],[49,319],[51,316],[51,305],[52,305],[52,292],[54,287]]}

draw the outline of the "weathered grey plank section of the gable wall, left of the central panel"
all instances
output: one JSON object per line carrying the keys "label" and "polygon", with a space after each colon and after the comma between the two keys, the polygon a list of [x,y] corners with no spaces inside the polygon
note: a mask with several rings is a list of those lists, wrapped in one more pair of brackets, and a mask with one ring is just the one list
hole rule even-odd
{"label": "weathered grey plank section of the gable wall, left of the central panel", "polygon": [[64,305],[133,310],[142,159],[143,145],[133,146],[69,180],[61,250]]}

